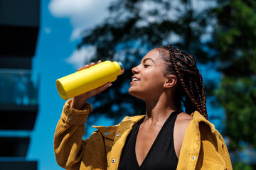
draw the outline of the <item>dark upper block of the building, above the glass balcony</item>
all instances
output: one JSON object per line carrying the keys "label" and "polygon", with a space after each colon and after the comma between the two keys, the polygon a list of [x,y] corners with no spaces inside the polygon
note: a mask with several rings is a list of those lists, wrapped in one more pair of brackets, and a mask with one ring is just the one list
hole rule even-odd
{"label": "dark upper block of the building, above the glass balcony", "polygon": [[1,68],[31,69],[39,18],[39,0],[0,0]]}

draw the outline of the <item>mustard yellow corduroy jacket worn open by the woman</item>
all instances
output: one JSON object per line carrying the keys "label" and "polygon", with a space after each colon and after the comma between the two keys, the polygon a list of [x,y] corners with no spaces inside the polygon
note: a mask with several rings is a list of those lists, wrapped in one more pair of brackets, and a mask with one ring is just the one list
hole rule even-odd
{"label": "mustard yellow corduroy jacket worn open by the woman", "polygon": [[[118,169],[127,136],[144,116],[127,116],[119,125],[97,126],[82,140],[91,111],[88,103],[82,111],[70,108],[70,101],[65,103],[54,136],[55,157],[64,169]],[[186,130],[177,169],[232,169],[223,137],[197,111]]]}

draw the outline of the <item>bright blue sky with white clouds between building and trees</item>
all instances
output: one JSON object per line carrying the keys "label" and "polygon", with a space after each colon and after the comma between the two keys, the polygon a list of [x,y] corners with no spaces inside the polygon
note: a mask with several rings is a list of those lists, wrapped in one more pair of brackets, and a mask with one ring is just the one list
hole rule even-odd
{"label": "bright blue sky with white clouds between building and trees", "polygon": [[[88,58],[92,57],[93,47],[76,49],[80,42],[80,31],[92,28],[107,15],[105,10],[110,1],[84,0],[43,0],[41,1],[41,26],[38,35],[36,55],[33,58],[33,73],[40,75],[39,111],[34,130],[31,132],[31,144],[28,160],[38,161],[38,170],[62,169],[55,162],[53,136],[65,101],[58,95],[56,79],[76,71]],[[100,5],[99,5],[100,4]],[[206,79],[213,79],[216,72]],[[202,73],[203,73],[202,72]],[[214,78],[215,79],[215,78]],[[209,108],[209,107],[208,107]],[[111,125],[112,121],[102,118],[95,125]],[[92,128],[90,128],[92,131]]]}

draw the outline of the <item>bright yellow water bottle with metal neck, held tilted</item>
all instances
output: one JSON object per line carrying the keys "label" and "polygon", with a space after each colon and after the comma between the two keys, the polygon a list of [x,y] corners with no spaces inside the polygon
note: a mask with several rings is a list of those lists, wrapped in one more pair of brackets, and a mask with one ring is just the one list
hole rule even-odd
{"label": "bright yellow water bottle with metal neck, held tilted", "polygon": [[56,81],[60,97],[73,98],[117,79],[124,72],[121,62],[105,61]]}

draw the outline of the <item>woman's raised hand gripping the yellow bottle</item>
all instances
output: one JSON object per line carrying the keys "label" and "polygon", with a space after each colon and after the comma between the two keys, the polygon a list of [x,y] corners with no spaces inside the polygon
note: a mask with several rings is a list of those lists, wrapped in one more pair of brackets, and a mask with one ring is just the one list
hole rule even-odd
{"label": "woman's raised hand gripping the yellow bottle", "polygon": [[[97,64],[100,64],[102,61],[99,60]],[[82,69],[87,69],[90,67],[95,66],[95,63],[92,62],[90,64],[85,65],[84,67],[80,67],[78,69],[78,72],[81,71]],[[91,98],[92,96],[95,96],[96,94],[100,94],[100,92],[105,91],[109,86],[111,86],[111,83],[104,84],[103,86],[98,87],[97,89],[93,89],[92,91],[87,91],[85,94],[80,94],[79,96],[75,96],[72,99],[70,108],[75,108],[78,110],[81,110],[85,104],[87,103],[88,98]]]}

